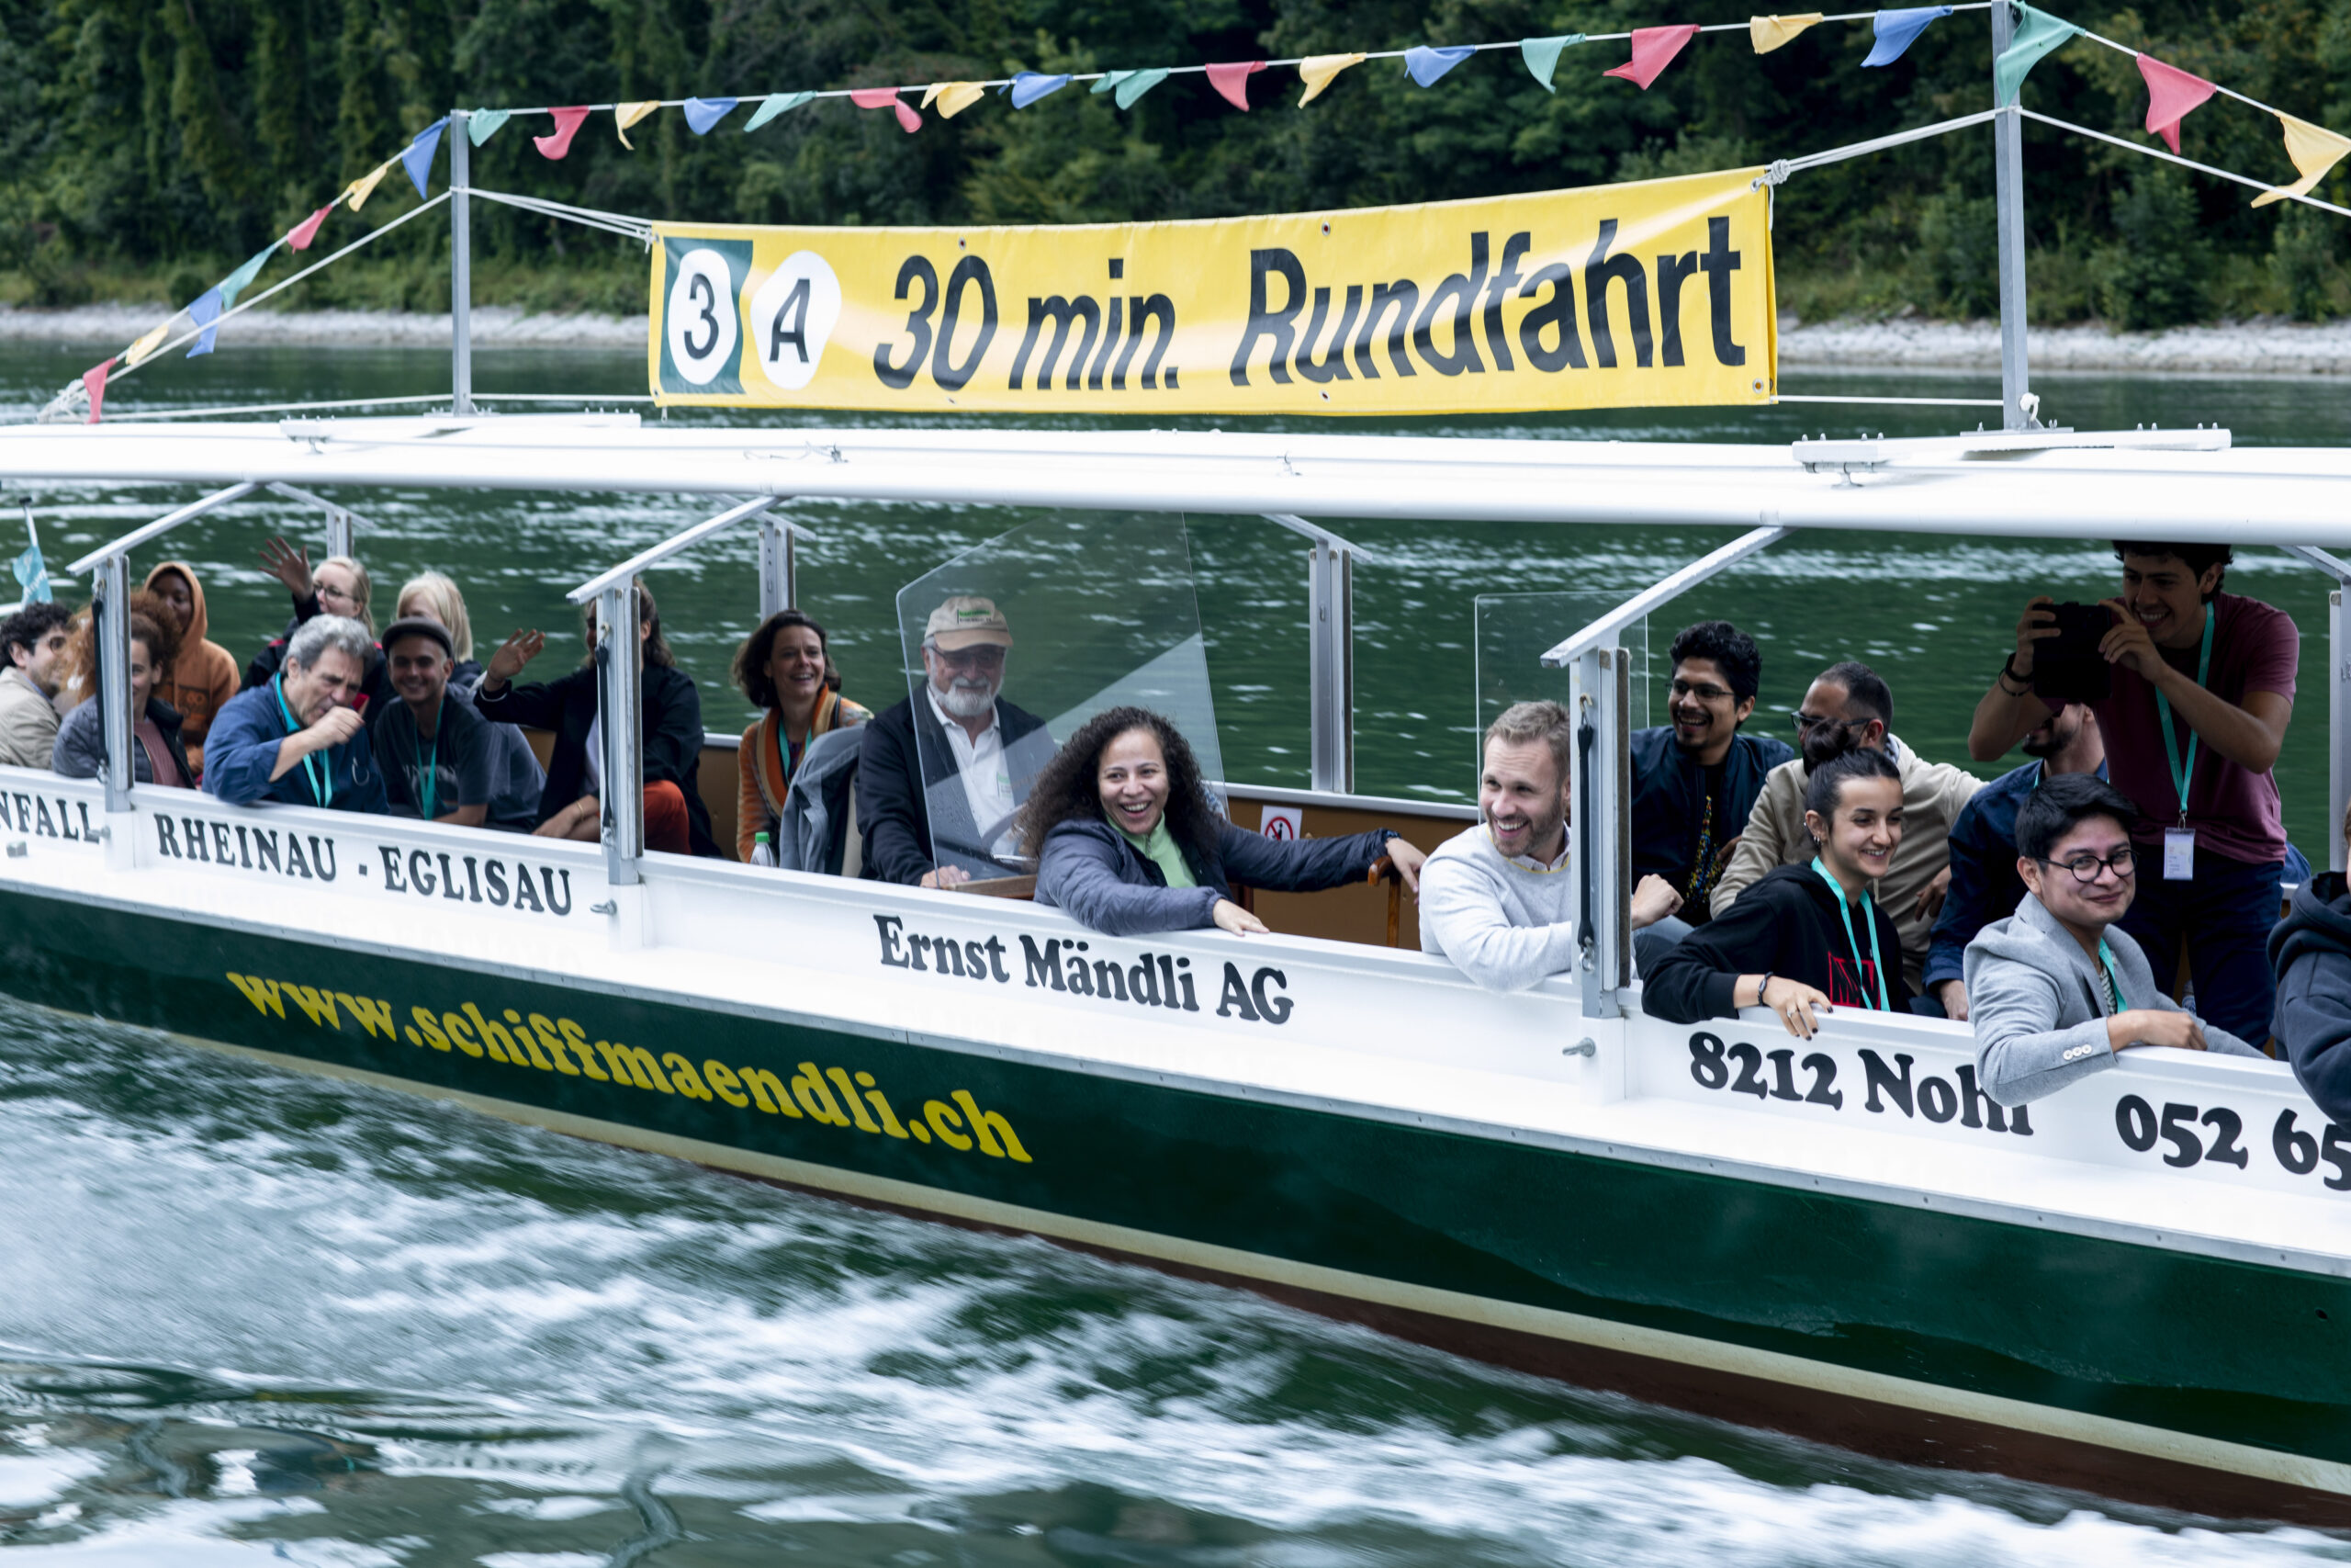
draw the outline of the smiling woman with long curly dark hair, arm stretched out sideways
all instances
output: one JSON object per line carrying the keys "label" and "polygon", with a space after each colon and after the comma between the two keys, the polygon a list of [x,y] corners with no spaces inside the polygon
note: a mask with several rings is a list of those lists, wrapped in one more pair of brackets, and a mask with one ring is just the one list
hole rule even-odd
{"label": "smiling woman with long curly dark hair, arm stretched out sideways", "polygon": [[1190,743],[1147,708],[1086,719],[1037,776],[1023,820],[1037,903],[1105,936],[1265,931],[1227,886],[1314,893],[1366,882],[1387,860],[1418,891],[1425,858],[1392,827],[1300,842],[1234,827],[1208,804]]}

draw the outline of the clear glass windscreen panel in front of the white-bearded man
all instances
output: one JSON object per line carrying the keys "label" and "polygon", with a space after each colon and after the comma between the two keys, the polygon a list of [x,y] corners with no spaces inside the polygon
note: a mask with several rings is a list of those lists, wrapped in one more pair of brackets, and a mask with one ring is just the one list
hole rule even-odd
{"label": "clear glass windscreen panel in front of the white-bearded man", "polygon": [[1183,517],[1056,512],[898,590],[931,858],[971,879],[1037,870],[1020,806],[1107,708],[1150,708],[1201,778],[1225,776]]}

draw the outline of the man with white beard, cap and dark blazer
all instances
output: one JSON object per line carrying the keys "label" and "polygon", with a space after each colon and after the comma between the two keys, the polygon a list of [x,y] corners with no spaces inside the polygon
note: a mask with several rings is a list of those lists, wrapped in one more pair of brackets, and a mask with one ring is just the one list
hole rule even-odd
{"label": "man with white beard, cap and dark blazer", "polygon": [[858,752],[868,877],[955,886],[973,867],[990,875],[1013,846],[1011,818],[1053,738],[1044,719],[1002,701],[1011,646],[992,599],[952,597],[931,611],[922,691],[879,712]]}

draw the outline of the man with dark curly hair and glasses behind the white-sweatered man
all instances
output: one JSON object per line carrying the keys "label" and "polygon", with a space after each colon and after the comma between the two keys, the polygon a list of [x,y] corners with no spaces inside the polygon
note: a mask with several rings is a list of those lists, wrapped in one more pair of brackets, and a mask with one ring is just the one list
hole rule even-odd
{"label": "man with dark curly hair and glasses behind the white-sweatered man", "polygon": [[1740,733],[1756,710],[1763,654],[1728,621],[1686,625],[1672,646],[1672,724],[1632,736],[1632,875],[1665,877],[1681,896],[1674,914],[1634,936],[1643,973],[1657,952],[1707,924],[1707,896],[1730,863],[1763,792],[1763,776],[1796,750]]}

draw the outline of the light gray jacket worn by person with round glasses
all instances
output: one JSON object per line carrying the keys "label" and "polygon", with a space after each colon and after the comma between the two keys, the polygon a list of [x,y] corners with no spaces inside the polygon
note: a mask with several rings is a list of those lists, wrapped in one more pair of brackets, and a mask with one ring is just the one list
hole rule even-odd
{"label": "light gray jacket worn by person with round glasses", "polygon": [[[2186,1011],[2163,994],[2146,954],[2121,926],[2106,929],[2106,947],[2123,987],[2123,1011]],[[2097,959],[2036,896],[2027,893],[2015,914],[1977,931],[1965,964],[1975,1072],[1994,1100],[2024,1105],[2114,1065]],[[2205,1046],[2219,1056],[2264,1056],[2210,1023],[2203,1030]]]}

